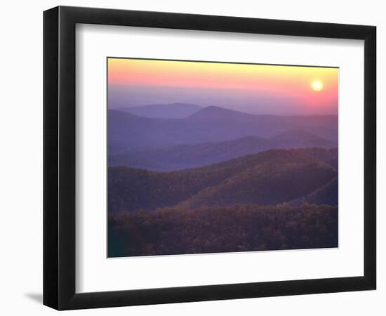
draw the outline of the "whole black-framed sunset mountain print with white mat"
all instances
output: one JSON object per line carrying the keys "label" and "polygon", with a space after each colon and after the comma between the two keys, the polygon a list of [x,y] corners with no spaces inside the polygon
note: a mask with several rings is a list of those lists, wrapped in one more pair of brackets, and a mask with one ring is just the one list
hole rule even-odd
{"label": "whole black-framed sunset mountain print with white mat", "polygon": [[376,31],[44,12],[44,304],[375,289]]}

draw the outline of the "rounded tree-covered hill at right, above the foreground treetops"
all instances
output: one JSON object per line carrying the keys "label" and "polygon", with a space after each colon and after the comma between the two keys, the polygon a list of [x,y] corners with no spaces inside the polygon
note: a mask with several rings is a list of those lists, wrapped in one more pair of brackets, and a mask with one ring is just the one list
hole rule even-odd
{"label": "rounded tree-covered hill at right, above the foreground treetops", "polygon": [[331,166],[295,151],[277,150],[262,155],[269,159],[218,185],[206,187],[182,206],[196,209],[234,204],[280,204],[309,195],[336,176]]}

